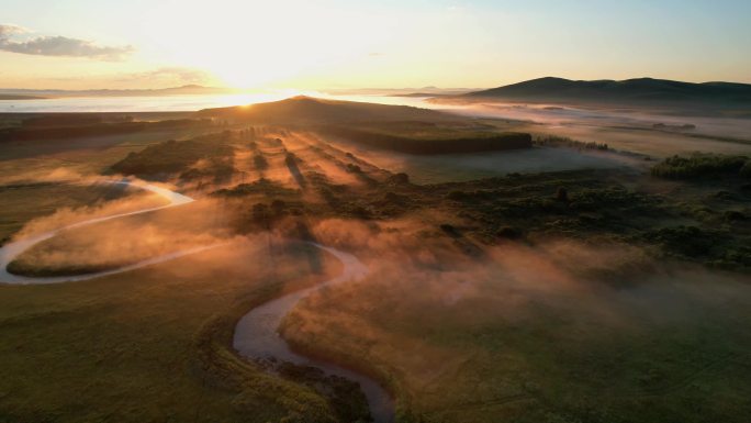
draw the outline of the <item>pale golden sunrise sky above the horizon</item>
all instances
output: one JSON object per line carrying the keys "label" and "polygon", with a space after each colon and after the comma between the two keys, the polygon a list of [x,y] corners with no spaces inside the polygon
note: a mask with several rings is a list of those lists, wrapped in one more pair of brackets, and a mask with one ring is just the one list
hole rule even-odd
{"label": "pale golden sunrise sky above the horizon", "polygon": [[0,0],[0,87],[751,82],[748,0]]}

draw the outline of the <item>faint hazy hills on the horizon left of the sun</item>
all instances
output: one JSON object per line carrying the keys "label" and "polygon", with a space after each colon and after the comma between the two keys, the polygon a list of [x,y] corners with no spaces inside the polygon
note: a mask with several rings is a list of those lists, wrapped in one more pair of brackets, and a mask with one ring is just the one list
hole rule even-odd
{"label": "faint hazy hills on the horizon left of the sun", "polygon": [[59,97],[160,97],[160,96],[199,96],[236,93],[233,88],[203,87],[188,85],[182,87],[143,89],[143,90],[31,90],[20,88],[0,88],[1,100],[31,100]]}

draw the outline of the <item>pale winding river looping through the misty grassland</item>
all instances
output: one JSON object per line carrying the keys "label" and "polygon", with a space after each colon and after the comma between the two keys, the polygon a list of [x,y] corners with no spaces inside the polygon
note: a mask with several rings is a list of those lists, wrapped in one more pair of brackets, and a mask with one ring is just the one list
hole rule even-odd
{"label": "pale winding river looping through the misty grassland", "polygon": [[[103,276],[122,274],[125,271],[138,269],[150,266],[157,263],[172,260],[178,257],[195,254],[202,251],[215,248],[218,245],[209,245],[180,252],[170,253],[167,255],[153,257],[147,260],[138,261],[133,265],[119,267],[115,269],[91,272],[76,276],[59,276],[59,277],[30,277],[13,275],[8,271],[8,265],[18,256],[30,249],[34,245],[49,240],[63,231],[72,230],[91,225],[99,222],[105,222],[113,219],[148,213],[157,210],[162,210],[176,205],[188,204],[194,200],[181,193],[170,191],[166,188],[157,187],[150,183],[141,183],[131,180],[108,180],[104,183],[122,185],[127,187],[139,188],[146,191],[154,192],[161,196],[169,201],[168,204],[142,209],[127,213],[111,214],[103,218],[94,218],[82,222],[77,222],[67,226],[63,226],[53,231],[43,232],[32,235],[26,238],[18,240],[8,243],[0,247],[0,283],[11,285],[42,285],[42,283],[60,283],[71,282],[100,278]],[[223,245],[223,244],[220,244]],[[296,365],[312,366],[322,369],[328,375],[340,376],[349,380],[356,381],[360,385],[362,391],[368,399],[370,413],[377,423],[391,423],[394,420],[394,404],[389,393],[381,388],[378,382],[368,378],[365,375],[357,374],[345,368],[307,358],[300,354],[293,353],[287,342],[277,332],[282,319],[301,299],[307,297],[316,290],[324,287],[335,286],[338,283],[358,280],[368,274],[368,268],[357,259],[357,257],[340,252],[338,249],[326,247],[320,244],[313,244],[316,247],[332,254],[343,264],[343,272],[338,277],[318,283],[301,291],[289,293],[284,297],[269,301],[260,307],[253,309],[249,313],[243,316],[235,327],[235,336],[233,346],[235,349],[246,358],[270,358],[273,357],[279,360],[290,361]]]}

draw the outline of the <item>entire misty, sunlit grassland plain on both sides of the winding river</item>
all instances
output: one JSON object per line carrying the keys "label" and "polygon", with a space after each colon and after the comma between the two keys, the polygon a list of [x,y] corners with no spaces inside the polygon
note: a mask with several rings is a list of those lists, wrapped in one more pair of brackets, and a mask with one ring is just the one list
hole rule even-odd
{"label": "entire misty, sunlit grassland plain on both sides of the winding river", "polygon": [[[301,101],[292,105],[310,105]],[[484,134],[447,122],[400,119],[368,131],[423,144]],[[293,126],[212,127],[69,148],[45,141],[36,153],[9,144],[0,180],[18,186],[0,189],[8,234],[60,207],[111,199],[99,187],[29,182],[35,171],[134,174],[198,199],[88,227],[99,237],[80,229],[49,240],[21,257],[25,272],[71,271],[29,259],[45,251],[86,254],[116,240],[137,252],[132,238],[159,238],[149,225],[176,234],[178,247],[189,244],[181,229],[237,241],[96,280],[0,285],[0,422],[363,420],[351,383],[305,368],[269,374],[232,348],[254,307],[340,270],[281,237],[369,265],[367,279],[299,304],[283,330],[294,348],[381,381],[400,422],[744,422],[751,413],[751,190],[738,160],[421,185]]]}

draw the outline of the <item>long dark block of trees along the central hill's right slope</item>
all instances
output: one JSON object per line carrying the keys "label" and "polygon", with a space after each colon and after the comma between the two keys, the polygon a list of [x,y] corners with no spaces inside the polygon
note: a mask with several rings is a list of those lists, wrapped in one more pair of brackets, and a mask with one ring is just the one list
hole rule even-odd
{"label": "long dark block of trees along the central hill's right slope", "polygon": [[460,154],[530,148],[531,135],[527,133],[498,133],[487,136],[458,136],[456,138],[416,138],[345,126],[318,129],[326,135],[339,136],[372,147],[410,154]]}

